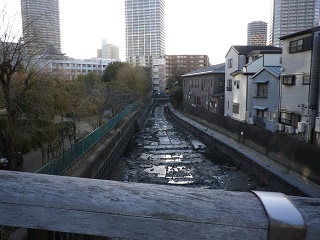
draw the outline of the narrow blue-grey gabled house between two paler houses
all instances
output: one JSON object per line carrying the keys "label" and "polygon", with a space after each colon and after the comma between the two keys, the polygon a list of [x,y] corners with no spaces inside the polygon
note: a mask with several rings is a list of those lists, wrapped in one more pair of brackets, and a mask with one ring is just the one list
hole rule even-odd
{"label": "narrow blue-grey gabled house between two paler houses", "polygon": [[280,66],[267,66],[252,76],[252,123],[275,132],[278,123]]}

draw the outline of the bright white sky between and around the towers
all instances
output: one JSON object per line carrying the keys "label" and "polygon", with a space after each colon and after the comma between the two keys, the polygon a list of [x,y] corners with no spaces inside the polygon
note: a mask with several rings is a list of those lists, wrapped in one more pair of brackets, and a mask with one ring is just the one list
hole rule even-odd
{"label": "bright white sky between and around the towers", "polygon": [[[21,23],[20,0],[0,0],[0,12],[4,4],[10,19]],[[270,0],[165,0],[166,54],[208,55],[211,64],[222,63],[231,45],[246,45],[249,22],[269,24],[270,4]],[[125,61],[124,21],[124,0],[60,0],[62,52],[90,59],[105,38],[119,46]]]}

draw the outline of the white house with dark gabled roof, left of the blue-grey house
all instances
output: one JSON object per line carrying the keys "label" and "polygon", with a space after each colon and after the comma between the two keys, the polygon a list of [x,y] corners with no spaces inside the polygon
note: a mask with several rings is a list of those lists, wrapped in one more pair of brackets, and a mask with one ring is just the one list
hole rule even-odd
{"label": "white house with dark gabled roof, left of the blue-grey house", "polygon": [[251,77],[265,66],[280,66],[281,51],[273,46],[231,46],[226,55],[225,116],[251,121]]}

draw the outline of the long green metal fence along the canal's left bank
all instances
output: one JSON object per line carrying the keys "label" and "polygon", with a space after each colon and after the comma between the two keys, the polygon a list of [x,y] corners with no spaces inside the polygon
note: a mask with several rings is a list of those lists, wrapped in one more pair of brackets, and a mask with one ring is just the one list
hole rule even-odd
{"label": "long green metal fence along the canal's left bank", "polygon": [[135,109],[140,101],[129,105],[121,113],[110,119],[101,127],[94,130],[85,138],[72,145],[68,150],[64,151],[60,156],[40,168],[37,173],[62,175],[71,165],[73,165],[81,156],[83,156],[94,144],[96,144],[105,134],[107,134],[114,126],[116,126],[125,116]]}

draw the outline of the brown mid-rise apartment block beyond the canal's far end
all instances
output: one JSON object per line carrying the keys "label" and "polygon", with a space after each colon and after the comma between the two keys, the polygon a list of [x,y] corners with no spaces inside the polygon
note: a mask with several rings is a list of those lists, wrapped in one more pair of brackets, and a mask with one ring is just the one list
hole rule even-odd
{"label": "brown mid-rise apartment block beyond the canal's far end", "polygon": [[199,68],[208,67],[207,55],[166,55],[166,77],[181,75]]}

